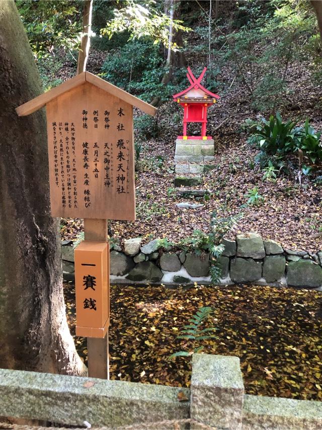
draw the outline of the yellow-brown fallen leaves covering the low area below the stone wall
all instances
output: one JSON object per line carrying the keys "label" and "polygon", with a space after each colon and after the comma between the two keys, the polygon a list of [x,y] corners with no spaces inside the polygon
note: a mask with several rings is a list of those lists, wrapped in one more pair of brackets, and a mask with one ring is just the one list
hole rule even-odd
{"label": "yellow-brown fallen leaves covering the low area below the stone wall", "polygon": [[[66,313],[76,349],[87,363],[86,338],[75,336],[74,286],[64,284]],[[192,350],[177,339],[199,307],[211,306],[205,327],[217,339],[203,352],[240,359],[248,394],[322,401],[322,299],[320,292],[238,285],[111,286],[110,377],[113,380],[189,387]],[[199,345],[195,345],[199,346]]]}

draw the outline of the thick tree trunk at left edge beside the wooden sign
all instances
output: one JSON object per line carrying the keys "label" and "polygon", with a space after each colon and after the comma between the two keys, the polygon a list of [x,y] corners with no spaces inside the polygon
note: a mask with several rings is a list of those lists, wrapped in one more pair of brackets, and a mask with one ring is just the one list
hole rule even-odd
{"label": "thick tree trunk at left edge beside the wooden sign", "polygon": [[45,112],[15,112],[42,91],[12,0],[0,2],[0,76],[0,367],[83,375],[65,315],[59,219],[50,216]]}

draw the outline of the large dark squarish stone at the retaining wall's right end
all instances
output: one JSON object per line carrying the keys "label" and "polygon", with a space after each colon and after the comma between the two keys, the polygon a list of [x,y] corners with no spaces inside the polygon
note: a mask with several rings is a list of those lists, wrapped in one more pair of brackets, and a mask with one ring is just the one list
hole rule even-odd
{"label": "large dark squarish stone at the retaining wall's right end", "polygon": [[321,286],[322,268],[311,260],[291,261],[287,265],[286,282],[290,286]]}

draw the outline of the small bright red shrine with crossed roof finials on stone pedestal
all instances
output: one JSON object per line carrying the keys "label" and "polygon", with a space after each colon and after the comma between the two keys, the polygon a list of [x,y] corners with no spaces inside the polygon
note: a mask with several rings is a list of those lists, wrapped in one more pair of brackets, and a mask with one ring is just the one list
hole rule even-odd
{"label": "small bright red shrine with crossed roof finials on stone pedestal", "polygon": [[[188,67],[187,78],[190,86],[181,93],[173,96],[174,101],[180,103],[184,108],[183,115],[183,136],[178,136],[178,139],[211,139],[211,136],[206,136],[207,129],[207,109],[219,99],[217,94],[211,93],[201,85],[201,80],[206,73],[207,67],[202,70],[201,75],[196,79]],[[201,136],[187,136],[188,122],[201,122]]]}

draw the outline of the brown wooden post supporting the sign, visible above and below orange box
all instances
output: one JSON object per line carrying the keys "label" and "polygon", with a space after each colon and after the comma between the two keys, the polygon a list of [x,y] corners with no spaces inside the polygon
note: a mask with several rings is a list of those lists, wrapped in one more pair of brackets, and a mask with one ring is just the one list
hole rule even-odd
{"label": "brown wooden post supporting the sign, visible above and below orange box", "polygon": [[[107,242],[107,220],[84,219],[85,240]],[[108,270],[110,276],[110,270]],[[89,377],[110,379],[109,372],[109,329],[104,338],[87,338]]]}

